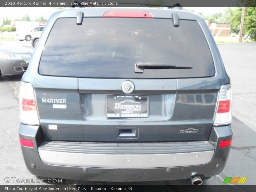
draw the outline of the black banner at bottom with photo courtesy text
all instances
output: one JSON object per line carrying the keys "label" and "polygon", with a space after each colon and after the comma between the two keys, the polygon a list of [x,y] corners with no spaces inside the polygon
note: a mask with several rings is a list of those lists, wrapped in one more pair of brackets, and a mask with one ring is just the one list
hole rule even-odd
{"label": "black banner at bottom with photo courtesy text", "polygon": [[210,186],[179,186],[179,185],[116,185],[116,186],[79,186],[79,185],[13,185],[0,186],[1,192],[256,192],[256,186],[243,185],[210,185]]}

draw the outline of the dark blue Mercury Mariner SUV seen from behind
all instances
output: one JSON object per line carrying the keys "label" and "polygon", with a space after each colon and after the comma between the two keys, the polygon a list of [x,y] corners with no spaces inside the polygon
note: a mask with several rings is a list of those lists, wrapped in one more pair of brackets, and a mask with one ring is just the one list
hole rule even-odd
{"label": "dark blue Mercury Mariner SUV seen from behind", "polygon": [[204,19],[81,8],[47,22],[20,86],[20,143],[40,177],[98,181],[219,174],[232,93]]}

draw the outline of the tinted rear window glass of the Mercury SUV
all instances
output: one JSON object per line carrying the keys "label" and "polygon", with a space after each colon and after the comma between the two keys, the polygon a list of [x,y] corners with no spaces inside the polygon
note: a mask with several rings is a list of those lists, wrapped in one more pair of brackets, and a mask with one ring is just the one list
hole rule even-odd
{"label": "tinted rear window glass of the Mercury SUV", "polygon": [[[145,68],[136,62],[191,69]],[[41,75],[88,78],[186,78],[214,76],[212,55],[196,21],[171,19],[76,18],[56,20],[39,65]]]}

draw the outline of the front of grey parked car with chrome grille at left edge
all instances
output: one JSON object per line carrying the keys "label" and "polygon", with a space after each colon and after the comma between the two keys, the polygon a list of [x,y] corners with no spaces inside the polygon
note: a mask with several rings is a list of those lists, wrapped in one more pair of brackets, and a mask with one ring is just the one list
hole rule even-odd
{"label": "front of grey parked car with chrome grille at left edge", "polygon": [[0,44],[0,77],[24,73],[31,55],[27,48]]}

